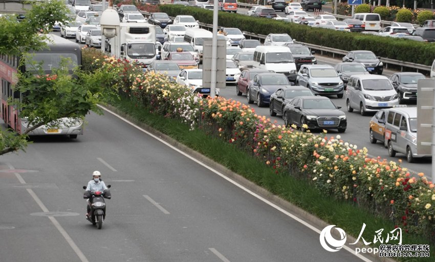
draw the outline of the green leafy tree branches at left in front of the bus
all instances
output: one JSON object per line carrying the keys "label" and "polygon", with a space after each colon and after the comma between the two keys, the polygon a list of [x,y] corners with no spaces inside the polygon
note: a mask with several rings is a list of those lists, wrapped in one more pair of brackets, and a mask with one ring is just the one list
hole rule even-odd
{"label": "green leafy tree branches at left in front of the bus", "polygon": [[[43,49],[48,37],[38,32],[52,28],[56,21],[67,21],[66,13],[62,1],[45,0],[36,2],[22,22],[11,16],[0,17],[0,53],[19,55]],[[106,88],[113,75],[101,69],[83,72],[74,68],[71,71],[71,61],[64,59],[46,75],[42,69],[37,69],[31,55],[21,56],[20,63],[30,70],[18,73],[18,82],[12,89],[23,94],[23,98],[11,97],[8,103],[18,109],[18,117],[25,120],[28,128],[22,134],[0,131],[0,155],[25,150],[27,134],[38,127],[56,127],[64,117],[83,120],[90,111],[101,113],[98,104],[115,93]]]}

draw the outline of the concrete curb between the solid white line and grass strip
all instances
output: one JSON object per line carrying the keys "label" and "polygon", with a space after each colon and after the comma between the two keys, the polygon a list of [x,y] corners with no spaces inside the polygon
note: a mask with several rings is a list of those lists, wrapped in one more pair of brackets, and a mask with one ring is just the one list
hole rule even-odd
{"label": "concrete curb between the solid white line and grass strip", "polygon": [[[184,153],[194,157],[195,159],[200,160],[200,162],[202,162],[203,164],[206,164],[207,166],[215,169],[216,171],[219,171],[220,173],[224,174],[225,176],[231,178],[232,180],[234,180],[235,182],[241,184],[242,186],[248,188],[249,190],[251,190],[252,192],[264,197],[265,199],[269,200],[271,203],[279,206],[280,208],[288,211],[289,213],[292,213],[293,215],[297,216],[298,218],[300,218],[301,220],[307,221],[309,222],[309,224],[311,224],[312,226],[314,226],[315,228],[317,228],[319,231],[321,231],[323,228],[329,226],[330,224],[323,221],[322,219],[318,218],[317,216],[307,212],[306,210],[303,210],[299,207],[297,207],[296,205],[290,203],[289,201],[282,199],[281,197],[272,194],[271,192],[269,192],[268,190],[256,185],[255,183],[251,182],[250,180],[248,180],[247,178],[243,177],[240,174],[237,174],[233,171],[231,171],[230,169],[226,168],[225,166],[214,162],[214,160],[208,158],[207,156],[199,153],[198,151],[195,151],[189,147],[187,147],[186,145],[182,144],[181,142],[177,141],[176,139],[154,129],[153,127],[144,124],[140,121],[138,121],[136,118],[134,118],[133,116],[130,116],[124,112],[122,112],[121,110],[119,110],[118,108],[112,106],[112,105],[100,105],[101,107],[106,108],[107,110],[113,111],[116,114],[124,117],[125,119],[127,119],[128,121],[134,123],[135,125],[139,126],[140,128],[146,130],[147,132],[154,134],[156,136],[158,136],[159,138],[161,138],[162,140],[164,140],[166,143],[176,147],[177,149],[183,151]],[[351,218],[350,218],[351,219]],[[336,236],[337,238],[340,237],[340,234],[338,233],[337,230],[332,231],[331,232],[332,235]],[[354,238],[351,235],[347,235],[347,243],[355,243],[357,239]],[[361,241],[359,241],[356,245],[356,248],[367,248],[367,246],[363,245],[363,243],[361,243]],[[319,248],[320,248],[320,243],[319,243]],[[365,257],[369,258],[369,259],[373,259],[374,261],[382,261],[382,262],[396,262],[396,260],[390,259],[390,258],[380,258],[372,253],[368,253],[369,255],[366,255]]]}

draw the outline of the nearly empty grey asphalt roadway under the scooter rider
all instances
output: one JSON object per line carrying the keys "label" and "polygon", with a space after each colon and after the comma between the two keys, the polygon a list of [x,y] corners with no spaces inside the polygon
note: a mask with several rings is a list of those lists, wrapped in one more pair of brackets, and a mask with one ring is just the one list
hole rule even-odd
{"label": "nearly empty grey asphalt roadway under the scooter rider", "polygon": [[[323,250],[318,233],[115,116],[86,120],[78,139],[36,138],[27,152],[2,156],[0,168],[26,183],[0,172],[0,229],[14,227],[1,230],[2,260],[359,260]],[[102,230],[84,218],[81,186],[94,170],[113,186]],[[78,214],[55,219],[84,259],[49,218],[31,215],[42,210],[25,186],[48,211]]]}

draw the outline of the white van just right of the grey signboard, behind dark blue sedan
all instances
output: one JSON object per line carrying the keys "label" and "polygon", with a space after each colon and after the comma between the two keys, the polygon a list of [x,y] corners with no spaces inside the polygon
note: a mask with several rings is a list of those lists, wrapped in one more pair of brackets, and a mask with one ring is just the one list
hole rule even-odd
{"label": "white van just right of the grey signboard, behind dark blue sedan", "polygon": [[290,82],[296,82],[296,64],[286,46],[257,46],[254,51],[254,67],[283,73]]}

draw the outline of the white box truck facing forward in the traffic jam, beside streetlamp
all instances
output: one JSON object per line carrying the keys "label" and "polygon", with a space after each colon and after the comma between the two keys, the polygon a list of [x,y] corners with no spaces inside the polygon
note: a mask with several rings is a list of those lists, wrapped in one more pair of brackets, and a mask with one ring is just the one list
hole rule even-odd
{"label": "white box truck facing forward in the traffic jam, beside streetlamp", "polygon": [[121,23],[119,34],[110,39],[111,54],[137,61],[147,67],[160,58],[161,46],[156,44],[156,26],[148,23]]}

